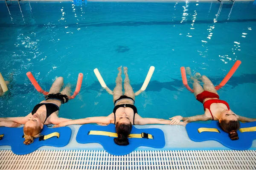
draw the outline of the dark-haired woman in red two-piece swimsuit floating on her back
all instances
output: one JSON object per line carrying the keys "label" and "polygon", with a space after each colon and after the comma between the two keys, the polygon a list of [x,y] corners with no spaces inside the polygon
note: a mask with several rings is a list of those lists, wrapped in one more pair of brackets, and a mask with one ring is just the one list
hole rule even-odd
{"label": "dark-haired woman in red two-piece swimsuit floating on her back", "polygon": [[[219,99],[215,86],[206,76],[201,77],[199,73],[196,73],[195,77],[192,77],[190,68],[186,68],[186,71],[187,74],[189,74],[191,76],[191,79],[194,81],[194,94],[196,99],[199,102],[203,103],[204,114],[191,117],[174,116],[170,118],[172,119],[170,125],[186,126],[186,124],[189,122],[218,120],[221,129],[229,133],[230,139],[239,139],[236,132],[240,127],[239,121],[254,122],[256,121],[256,119],[246,118],[235,114],[233,111],[230,110],[227,102]],[[202,80],[202,82],[204,83],[204,88],[200,85],[197,78]],[[180,122],[181,120],[183,122]]]}

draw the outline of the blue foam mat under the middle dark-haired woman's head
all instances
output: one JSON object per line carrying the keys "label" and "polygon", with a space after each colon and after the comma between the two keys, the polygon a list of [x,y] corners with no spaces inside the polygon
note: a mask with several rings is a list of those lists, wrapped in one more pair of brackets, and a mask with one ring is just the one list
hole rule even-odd
{"label": "blue foam mat under the middle dark-haired woman's head", "polygon": [[126,155],[131,153],[137,147],[146,146],[154,148],[163,148],[165,146],[165,138],[162,130],[157,128],[150,129],[137,129],[132,127],[131,134],[138,133],[149,133],[154,136],[154,139],[145,139],[145,138],[128,138],[129,144],[127,146],[120,146],[115,144],[114,137],[101,136],[101,135],[88,135],[90,130],[99,130],[116,133],[116,128],[114,124],[108,126],[99,126],[99,125],[82,125],[79,128],[79,131],[76,136],[76,141],[78,143],[99,143],[103,148],[112,155]]}

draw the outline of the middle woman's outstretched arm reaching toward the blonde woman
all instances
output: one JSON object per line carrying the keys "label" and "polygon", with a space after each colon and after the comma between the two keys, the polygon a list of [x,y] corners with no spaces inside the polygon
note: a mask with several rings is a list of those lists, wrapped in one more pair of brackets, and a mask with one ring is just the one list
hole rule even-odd
{"label": "middle woman's outstretched arm reaching toward the blonde woman", "polygon": [[103,124],[110,124],[111,119],[108,116],[98,116],[98,117],[87,117],[84,119],[76,119],[76,120],[70,120],[66,122],[61,122],[58,125],[55,125],[54,127],[63,127],[67,125],[81,125],[81,124],[88,124],[88,123],[103,123]]}

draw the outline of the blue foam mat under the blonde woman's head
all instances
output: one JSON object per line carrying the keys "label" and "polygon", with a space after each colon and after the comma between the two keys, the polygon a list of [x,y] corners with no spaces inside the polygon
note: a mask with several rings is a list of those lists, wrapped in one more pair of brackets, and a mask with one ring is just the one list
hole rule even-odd
{"label": "blue foam mat under the blonde woman's head", "polygon": [[64,147],[69,143],[71,137],[70,127],[48,128],[47,125],[44,125],[41,135],[48,135],[53,132],[60,133],[59,138],[54,136],[44,141],[39,141],[39,138],[35,138],[32,144],[26,145],[23,144],[23,127],[0,127],[0,135],[4,134],[0,140],[0,146],[9,145],[13,153],[25,155],[42,146]]}

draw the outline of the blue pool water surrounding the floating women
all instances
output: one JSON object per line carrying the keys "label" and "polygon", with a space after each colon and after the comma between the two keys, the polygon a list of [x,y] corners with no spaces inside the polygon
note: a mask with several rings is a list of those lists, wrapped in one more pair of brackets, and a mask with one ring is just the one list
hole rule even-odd
{"label": "blue pool water surrounding the floating women", "polygon": [[[143,117],[168,119],[202,114],[203,106],[184,88],[181,66],[207,75],[217,85],[237,59],[239,69],[218,91],[237,114],[256,117],[256,6],[253,2],[96,3],[0,2],[0,72],[14,73],[0,97],[0,117],[25,116],[44,99],[31,85],[31,71],[49,90],[58,76],[72,83],[84,74],[76,99],[61,106],[60,117],[107,116],[112,96],[102,90],[98,68],[113,89],[120,65],[128,67],[134,91],[151,65],[146,91],[137,96]],[[30,8],[30,6],[31,8]],[[232,8],[232,11],[231,11]]]}

